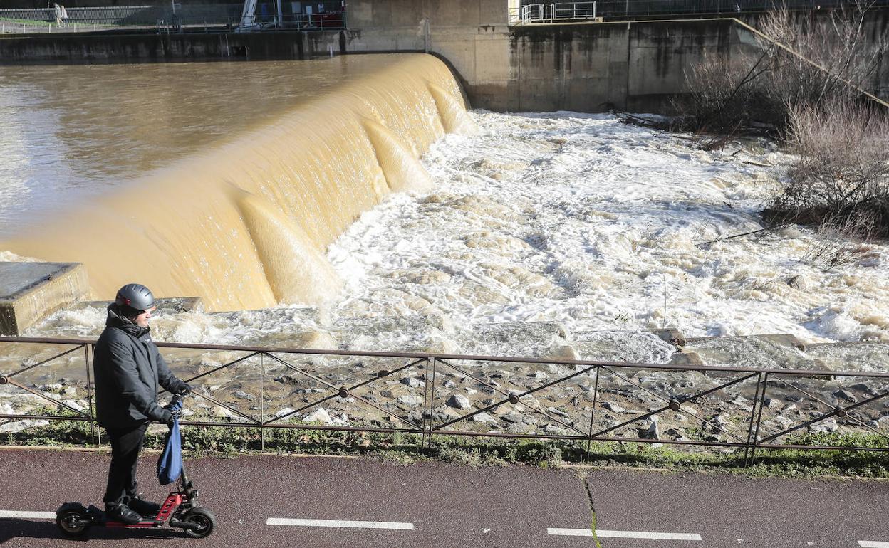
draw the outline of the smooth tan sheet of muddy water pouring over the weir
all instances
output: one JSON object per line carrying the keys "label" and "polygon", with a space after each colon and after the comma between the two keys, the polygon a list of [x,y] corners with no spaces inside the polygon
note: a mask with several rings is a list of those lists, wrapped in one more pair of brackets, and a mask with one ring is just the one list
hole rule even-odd
{"label": "smooth tan sheet of muddy water pouring over the weir", "polygon": [[274,123],[68,210],[0,249],[84,263],[93,298],[139,281],[208,310],[317,305],[341,282],[324,249],[390,192],[428,191],[420,155],[470,132],[459,84],[423,54]]}

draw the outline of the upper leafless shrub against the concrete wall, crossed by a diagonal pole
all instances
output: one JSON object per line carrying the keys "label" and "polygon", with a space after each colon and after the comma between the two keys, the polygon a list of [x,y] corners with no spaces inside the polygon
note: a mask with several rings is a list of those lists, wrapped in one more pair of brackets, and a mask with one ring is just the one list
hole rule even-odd
{"label": "upper leafless shrub against the concrete wall, crossed by a diagonal pole", "polygon": [[793,108],[861,97],[889,52],[889,28],[870,32],[865,24],[871,4],[860,0],[821,16],[785,5],[766,13],[760,52],[731,62],[705,56],[686,73],[693,91],[674,105],[677,129],[750,132],[765,123],[781,135]]}

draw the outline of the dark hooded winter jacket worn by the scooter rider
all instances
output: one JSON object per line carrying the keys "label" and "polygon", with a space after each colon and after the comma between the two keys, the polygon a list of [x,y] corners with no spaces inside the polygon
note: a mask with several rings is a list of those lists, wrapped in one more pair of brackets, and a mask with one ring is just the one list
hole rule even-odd
{"label": "dark hooded winter jacket worn by the scooter rider", "polygon": [[158,385],[171,392],[185,387],[170,372],[148,328],[131,322],[113,304],[92,358],[96,419],[106,428],[165,422],[169,411],[157,405]]}

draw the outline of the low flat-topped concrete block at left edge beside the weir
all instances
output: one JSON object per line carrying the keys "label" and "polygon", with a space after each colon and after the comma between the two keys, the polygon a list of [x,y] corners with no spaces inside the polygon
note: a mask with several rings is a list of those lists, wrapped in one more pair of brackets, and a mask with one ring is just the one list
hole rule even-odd
{"label": "low flat-topped concrete block at left edge beside the weir", "polygon": [[89,295],[79,263],[0,262],[0,335],[17,336],[62,307]]}

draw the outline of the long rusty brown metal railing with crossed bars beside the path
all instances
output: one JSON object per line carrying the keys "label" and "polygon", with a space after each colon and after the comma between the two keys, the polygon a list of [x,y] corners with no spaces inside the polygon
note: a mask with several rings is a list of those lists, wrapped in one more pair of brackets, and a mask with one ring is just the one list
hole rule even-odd
{"label": "long rusty brown metal railing with crossed bars beside the path", "polygon": [[[0,418],[89,421],[100,441],[92,345],[0,338],[0,404],[19,411]],[[299,428],[571,440],[588,453],[593,441],[657,442],[742,450],[745,464],[758,449],[889,451],[885,372],[158,346],[195,387],[182,424],[259,428],[263,441],[268,428]],[[873,435],[861,447],[789,438],[817,432]]]}

